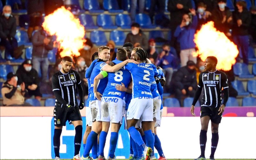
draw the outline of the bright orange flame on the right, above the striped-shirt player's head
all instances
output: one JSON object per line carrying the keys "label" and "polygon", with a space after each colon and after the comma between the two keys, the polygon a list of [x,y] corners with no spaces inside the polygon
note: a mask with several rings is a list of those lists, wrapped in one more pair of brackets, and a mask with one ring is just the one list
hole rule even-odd
{"label": "bright orange flame on the right, above the striped-shirt player's head", "polygon": [[232,65],[236,63],[237,46],[223,32],[214,28],[213,21],[202,26],[195,34],[194,42],[198,51],[193,56],[199,55],[203,61],[208,56],[215,56],[218,59],[217,69],[230,70]]}

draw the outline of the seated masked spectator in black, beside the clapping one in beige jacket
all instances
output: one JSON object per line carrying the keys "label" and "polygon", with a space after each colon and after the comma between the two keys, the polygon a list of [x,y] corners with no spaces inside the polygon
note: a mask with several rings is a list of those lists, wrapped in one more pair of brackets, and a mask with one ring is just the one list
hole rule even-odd
{"label": "seated masked spectator in black, beside the clapping one in beige jacket", "polygon": [[32,61],[25,60],[18,68],[16,75],[18,76],[18,84],[25,83],[28,97],[34,95],[37,100],[41,100],[40,81],[36,69],[32,68]]}

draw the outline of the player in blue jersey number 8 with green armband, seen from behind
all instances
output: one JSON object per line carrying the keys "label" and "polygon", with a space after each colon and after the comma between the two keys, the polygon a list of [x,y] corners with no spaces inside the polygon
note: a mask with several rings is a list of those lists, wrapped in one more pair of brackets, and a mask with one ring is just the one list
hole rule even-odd
{"label": "player in blue jersey number 8 with green armband, seen from behind", "polygon": [[[121,63],[128,59],[127,52],[123,48],[119,48],[116,53],[117,60],[113,60],[114,64]],[[102,98],[100,97],[100,92],[97,91],[97,84],[101,79],[108,76],[108,84],[103,92]],[[124,84],[128,86],[131,80],[131,73],[128,70],[119,69],[116,72],[100,72],[98,76],[94,78],[94,95],[98,100],[101,100],[101,121],[102,121],[102,131],[100,133],[100,155],[98,159],[104,158],[104,147],[106,143],[106,138],[111,122],[111,137],[110,137],[110,149],[108,160],[115,159],[114,153],[116,150],[116,144],[118,139],[118,130],[123,122],[124,107],[123,98],[125,92],[120,92],[116,90],[116,85]]]}

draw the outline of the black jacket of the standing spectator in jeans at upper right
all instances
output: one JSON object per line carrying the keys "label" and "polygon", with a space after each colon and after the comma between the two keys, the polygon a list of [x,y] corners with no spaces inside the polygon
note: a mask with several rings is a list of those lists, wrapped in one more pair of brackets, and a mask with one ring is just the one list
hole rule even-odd
{"label": "black jacket of the standing spectator in jeans at upper right", "polygon": [[[239,19],[242,20],[242,25],[240,27],[238,27],[236,22]],[[245,36],[249,34],[248,29],[251,24],[251,13],[246,8],[241,13],[238,11],[235,11],[233,20],[234,20],[234,25],[233,25],[234,35]]]}

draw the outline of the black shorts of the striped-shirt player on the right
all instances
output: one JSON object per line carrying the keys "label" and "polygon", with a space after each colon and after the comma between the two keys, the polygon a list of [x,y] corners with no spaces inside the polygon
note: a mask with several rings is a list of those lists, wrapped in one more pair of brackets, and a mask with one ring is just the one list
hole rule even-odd
{"label": "black shorts of the striped-shirt player on the right", "polygon": [[222,118],[222,114],[218,115],[220,107],[202,107],[200,111],[200,118],[209,116],[213,123],[219,124]]}

